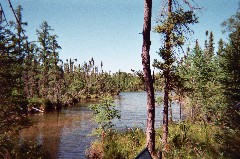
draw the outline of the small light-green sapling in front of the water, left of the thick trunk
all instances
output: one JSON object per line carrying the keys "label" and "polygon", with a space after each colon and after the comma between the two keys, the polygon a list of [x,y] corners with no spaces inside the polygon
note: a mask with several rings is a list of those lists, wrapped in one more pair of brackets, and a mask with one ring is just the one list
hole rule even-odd
{"label": "small light-green sapling in front of the water, left of the thick trunk", "polygon": [[98,127],[94,131],[94,134],[103,135],[114,124],[113,119],[120,119],[119,110],[115,109],[114,100],[110,96],[103,97],[99,104],[90,105],[89,108],[94,111],[94,121],[98,124]]}

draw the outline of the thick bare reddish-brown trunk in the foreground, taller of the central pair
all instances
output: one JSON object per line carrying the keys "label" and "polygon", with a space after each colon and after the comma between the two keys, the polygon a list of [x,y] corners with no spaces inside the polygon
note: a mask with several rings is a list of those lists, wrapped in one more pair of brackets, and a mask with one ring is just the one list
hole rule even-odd
{"label": "thick bare reddish-brown trunk in the foreground, taller of the central pair", "polygon": [[147,148],[151,154],[155,151],[155,98],[153,79],[150,69],[150,31],[151,31],[152,0],[144,1],[144,24],[143,24],[143,45],[142,45],[142,65],[147,91]]}

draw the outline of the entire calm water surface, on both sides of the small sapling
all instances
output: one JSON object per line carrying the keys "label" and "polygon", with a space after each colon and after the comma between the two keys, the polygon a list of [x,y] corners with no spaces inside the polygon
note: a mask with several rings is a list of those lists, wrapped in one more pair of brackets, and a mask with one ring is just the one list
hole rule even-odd
{"label": "entire calm water surface, on both sides of the small sapling", "polygon": [[[161,93],[157,93],[161,96]],[[121,111],[121,119],[115,120],[118,129],[126,127],[142,127],[146,125],[146,93],[123,92],[115,99],[115,105]],[[60,112],[33,115],[35,124],[22,131],[21,137],[37,140],[50,152],[52,158],[84,159],[85,150],[90,146],[93,137],[89,137],[96,126],[92,120],[92,112],[82,103]],[[179,107],[173,104],[173,116],[178,120]],[[162,107],[156,107],[156,127],[162,119]]]}

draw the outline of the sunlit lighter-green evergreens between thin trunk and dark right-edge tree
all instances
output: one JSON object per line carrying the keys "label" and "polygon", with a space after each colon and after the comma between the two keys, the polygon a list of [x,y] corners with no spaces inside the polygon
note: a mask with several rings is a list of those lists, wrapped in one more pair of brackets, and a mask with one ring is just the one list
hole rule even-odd
{"label": "sunlit lighter-green evergreens between thin trunk and dark right-edge tree", "polygon": [[[212,37],[210,36],[209,43],[213,41]],[[183,79],[185,96],[190,99],[188,106],[192,110],[192,118],[218,122],[225,109],[224,96],[219,80],[221,73],[218,60],[214,54],[209,53],[209,47],[213,47],[209,43],[205,50],[198,45],[189,50],[188,56],[178,66],[178,74]]]}

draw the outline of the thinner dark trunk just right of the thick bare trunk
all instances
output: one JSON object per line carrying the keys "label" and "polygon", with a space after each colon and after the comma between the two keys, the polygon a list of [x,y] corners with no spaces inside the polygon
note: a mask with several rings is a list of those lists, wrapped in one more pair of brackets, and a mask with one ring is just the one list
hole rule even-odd
{"label": "thinner dark trunk just right of the thick bare trunk", "polygon": [[[168,14],[172,12],[172,0],[168,0]],[[165,45],[168,52],[169,58],[171,58],[171,30],[167,32]],[[168,138],[168,107],[169,107],[169,91],[170,91],[170,61],[166,60],[167,68],[164,71],[165,78],[165,87],[164,87],[164,110],[163,110],[163,136],[162,143],[163,146],[167,147],[167,138]]]}

